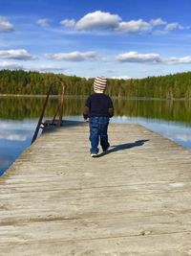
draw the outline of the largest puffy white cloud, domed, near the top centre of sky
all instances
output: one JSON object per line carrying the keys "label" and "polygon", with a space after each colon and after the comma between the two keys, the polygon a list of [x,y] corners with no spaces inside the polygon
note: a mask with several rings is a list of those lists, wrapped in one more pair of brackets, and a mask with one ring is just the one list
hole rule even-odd
{"label": "largest puffy white cloud, domed, near the top centre of sky", "polygon": [[111,14],[110,12],[90,12],[76,22],[75,29],[78,31],[114,30],[120,20],[121,18],[117,14]]}

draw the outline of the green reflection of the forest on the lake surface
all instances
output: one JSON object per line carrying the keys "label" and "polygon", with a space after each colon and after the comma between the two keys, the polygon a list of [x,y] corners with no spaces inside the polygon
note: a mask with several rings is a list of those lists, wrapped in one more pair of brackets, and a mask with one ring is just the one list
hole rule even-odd
{"label": "green reflection of the forest on the lake surface", "polygon": [[[38,118],[44,98],[1,98],[0,118],[22,120]],[[81,115],[85,98],[65,98],[64,115]],[[46,115],[53,117],[57,99],[52,99]],[[122,100],[114,99],[115,115],[144,117],[191,125],[191,101]]]}

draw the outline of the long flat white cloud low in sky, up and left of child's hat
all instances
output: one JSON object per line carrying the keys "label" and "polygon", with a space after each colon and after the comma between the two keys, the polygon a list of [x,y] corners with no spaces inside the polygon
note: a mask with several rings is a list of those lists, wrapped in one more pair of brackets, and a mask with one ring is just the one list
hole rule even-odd
{"label": "long flat white cloud low in sky, up and left of child's hat", "polygon": [[98,59],[95,52],[71,52],[59,54],[47,54],[45,58],[53,60],[66,60],[66,61],[82,61],[82,60],[96,60]]}

